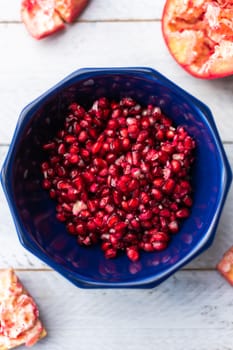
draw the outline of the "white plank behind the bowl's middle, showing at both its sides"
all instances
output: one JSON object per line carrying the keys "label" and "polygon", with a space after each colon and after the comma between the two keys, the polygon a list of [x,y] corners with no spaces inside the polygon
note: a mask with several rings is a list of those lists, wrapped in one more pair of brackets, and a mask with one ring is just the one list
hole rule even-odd
{"label": "white plank behind the bowl's middle, showing at both its sides", "polygon": [[[231,166],[233,167],[233,145],[225,145]],[[0,167],[5,158],[7,147],[0,147]],[[215,269],[217,262],[223,253],[233,244],[233,188],[231,188],[226,205],[224,207],[216,238],[213,245],[198,258],[193,260],[185,269]],[[0,188],[0,247],[4,249],[0,252],[0,266],[15,266],[18,268],[44,268],[45,265],[40,260],[32,256],[21,247],[16,230],[11,218],[11,214]]]}

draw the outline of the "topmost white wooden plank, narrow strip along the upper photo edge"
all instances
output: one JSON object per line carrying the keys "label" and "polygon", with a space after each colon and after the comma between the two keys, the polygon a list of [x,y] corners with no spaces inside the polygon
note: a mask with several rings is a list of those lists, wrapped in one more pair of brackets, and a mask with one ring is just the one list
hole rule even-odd
{"label": "topmost white wooden plank, narrow strip along the upper photo edge", "polygon": [[[0,22],[20,21],[21,0],[11,0],[1,6]],[[164,1],[162,0],[91,0],[80,16],[81,21],[98,20],[151,20],[160,19]]]}

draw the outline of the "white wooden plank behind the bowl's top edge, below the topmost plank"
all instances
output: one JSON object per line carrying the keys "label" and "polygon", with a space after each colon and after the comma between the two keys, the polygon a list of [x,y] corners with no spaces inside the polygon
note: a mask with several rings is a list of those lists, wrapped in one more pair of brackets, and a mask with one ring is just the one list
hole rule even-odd
{"label": "white wooden plank behind the bowl's top edge, below the topmost plank", "polygon": [[0,38],[1,143],[10,141],[22,108],[64,76],[80,67],[109,66],[157,69],[206,103],[223,140],[233,141],[232,77],[204,81],[189,76],[168,53],[160,23],[76,23],[40,42],[22,24],[1,24]]}

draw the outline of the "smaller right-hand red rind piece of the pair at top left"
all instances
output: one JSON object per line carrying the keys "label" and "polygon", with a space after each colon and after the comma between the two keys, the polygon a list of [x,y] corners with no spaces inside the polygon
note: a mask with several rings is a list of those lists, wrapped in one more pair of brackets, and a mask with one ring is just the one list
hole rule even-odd
{"label": "smaller right-hand red rind piece of the pair at top left", "polygon": [[88,2],[88,0],[55,0],[55,9],[65,22],[71,23],[82,13]]}

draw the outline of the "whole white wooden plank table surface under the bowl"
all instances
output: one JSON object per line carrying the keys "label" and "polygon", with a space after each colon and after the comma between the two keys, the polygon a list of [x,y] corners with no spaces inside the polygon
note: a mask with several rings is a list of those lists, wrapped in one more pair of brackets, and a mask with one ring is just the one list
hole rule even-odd
{"label": "whole white wooden plank table surface under the bowl", "polygon": [[[164,0],[92,0],[60,35],[32,39],[20,0],[0,0],[0,165],[21,109],[80,67],[150,66],[212,110],[233,165],[233,77],[203,81],[171,58],[161,34]],[[151,290],[83,290],[25,251],[0,189],[0,268],[12,266],[35,296],[48,350],[232,350],[233,288],[216,271],[233,244],[233,192],[212,247]]]}

